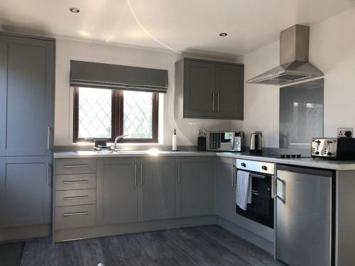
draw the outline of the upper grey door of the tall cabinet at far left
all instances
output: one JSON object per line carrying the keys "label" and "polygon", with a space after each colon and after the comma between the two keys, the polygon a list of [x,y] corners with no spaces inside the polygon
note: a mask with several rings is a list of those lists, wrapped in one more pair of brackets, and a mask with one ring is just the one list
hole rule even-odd
{"label": "upper grey door of the tall cabinet at far left", "polygon": [[54,43],[6,37],[6,155],[51,155]]}

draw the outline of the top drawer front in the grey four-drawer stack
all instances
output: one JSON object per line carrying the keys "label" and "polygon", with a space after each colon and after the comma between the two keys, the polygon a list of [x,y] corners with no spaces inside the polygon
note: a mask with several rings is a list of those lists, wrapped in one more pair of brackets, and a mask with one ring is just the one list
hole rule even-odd
{"label": "top drawer front in the grey four-drawer stack", "polygon": [[55,174],[89,174],[94,172],[96,172],[95,158],[55,160]]}

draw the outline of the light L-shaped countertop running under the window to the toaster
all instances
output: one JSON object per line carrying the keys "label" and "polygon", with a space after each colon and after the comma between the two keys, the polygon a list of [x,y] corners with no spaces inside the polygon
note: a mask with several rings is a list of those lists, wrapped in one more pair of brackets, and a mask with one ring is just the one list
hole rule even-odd
{"label": "light L-shaped countertop running under the window to the toaster", "polygon": [[284,165],[299,165],[304,167],[317,167],[329,170],[355,170],[355,161],[327,160],[322,158],[273,158],[266,156],[245,155],[243,153],[227,152],[198,152],[198,151],[148,151],[148,150],[122,150],[118,153],[95,153],[94,151],[56,152],[54,157],[148,157],[148,156],[219,156],[262,162],[274,162]]}

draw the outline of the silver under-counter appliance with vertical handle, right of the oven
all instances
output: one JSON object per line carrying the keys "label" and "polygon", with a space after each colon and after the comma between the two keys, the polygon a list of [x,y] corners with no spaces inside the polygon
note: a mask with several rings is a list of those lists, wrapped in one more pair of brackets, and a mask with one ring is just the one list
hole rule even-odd
{"label": "silver under-counter appliance with vertical handle, right of the oven", "polygon": [[335,172],[278,165],[275,258],[290,266],[334,265]]}

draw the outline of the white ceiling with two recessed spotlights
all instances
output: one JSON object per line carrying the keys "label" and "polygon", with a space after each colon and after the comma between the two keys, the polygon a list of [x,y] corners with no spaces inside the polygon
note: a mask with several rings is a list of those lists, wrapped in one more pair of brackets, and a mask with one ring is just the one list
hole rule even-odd
{"label": "white ceiling with two recessed spotlights", "polygon": [[354,6],[355,0],[0,0],[0,24],[3,31],[244,55],[295,23],[310,25]]}

